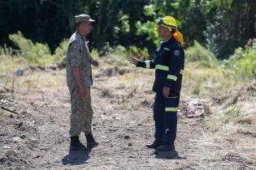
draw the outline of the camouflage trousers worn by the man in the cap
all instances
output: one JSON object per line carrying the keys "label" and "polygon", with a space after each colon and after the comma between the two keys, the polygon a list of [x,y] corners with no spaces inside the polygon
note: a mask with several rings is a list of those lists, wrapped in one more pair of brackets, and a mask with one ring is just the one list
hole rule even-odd
{"label": "camouflage trousers worn by the man in the cap", "polygon": [[71,95],[72,114],[70,116],[70,136],[92,133],[93,108],[91,105],[90,87],[85,97],[78,96],[78,87],[69,87]]}

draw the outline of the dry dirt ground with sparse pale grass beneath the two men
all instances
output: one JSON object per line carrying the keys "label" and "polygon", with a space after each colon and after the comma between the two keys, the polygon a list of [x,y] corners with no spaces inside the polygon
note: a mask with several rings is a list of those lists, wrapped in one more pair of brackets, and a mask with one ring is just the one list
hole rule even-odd
{"label": "dry dirt ground with sparse pale grass beneath the two men", "polygon": [[[19,114],[0,111],[0,169],[256,169],[254,119],[232,134],[207,130],[204,122],[215,118],[218,104],[188,96],[184,87],[178,156],[156,153],[145,147],[154,140],[154,72],[93,70],[93,134],[100,144],[91,151],[69,151],[65,70],[25,72],[13,93],[5,86],[8,74],[1,74],[0,101]],[[198,117],[186,117],[188,112]]]}

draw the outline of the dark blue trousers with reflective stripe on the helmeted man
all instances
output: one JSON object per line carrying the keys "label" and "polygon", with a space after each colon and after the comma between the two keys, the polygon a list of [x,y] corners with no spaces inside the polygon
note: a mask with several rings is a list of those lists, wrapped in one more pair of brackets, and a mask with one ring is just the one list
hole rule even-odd
{"label": "dark blue trousers with reflective stripe on the helmeted man", "polygon": [[177,110],[180,96],[164,97],[157,92],[154,98],[155,142],[174,146],[177,132]]}

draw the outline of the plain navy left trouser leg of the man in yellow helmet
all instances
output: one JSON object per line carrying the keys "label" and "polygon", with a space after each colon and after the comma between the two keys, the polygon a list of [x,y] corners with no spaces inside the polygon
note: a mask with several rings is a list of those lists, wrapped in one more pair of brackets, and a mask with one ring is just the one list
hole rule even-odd
{"label": "plain navy left trouser leg of the man in yellow helmet", "polygon": [[158,144],[162,144],[165,133],[164,125],[164,100],[163,93],[158,92],[154,98],[154,138]]}

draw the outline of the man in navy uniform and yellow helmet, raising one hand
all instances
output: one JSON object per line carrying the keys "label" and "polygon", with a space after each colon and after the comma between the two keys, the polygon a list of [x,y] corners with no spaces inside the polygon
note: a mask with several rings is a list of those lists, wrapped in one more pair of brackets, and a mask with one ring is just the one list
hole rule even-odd
{"label": "man in navy uniform and yellow helmet, raising one hand", "polygon": [[137,57],[129,57],[128,60],[137,67],[155,69],[154,142],[146,147],[156,151],[175,151],[177,111],[184,70],[184,40],[173,17],[158,18],[157,26],[161,42],[154,60],[139,61]]}

